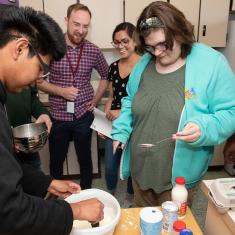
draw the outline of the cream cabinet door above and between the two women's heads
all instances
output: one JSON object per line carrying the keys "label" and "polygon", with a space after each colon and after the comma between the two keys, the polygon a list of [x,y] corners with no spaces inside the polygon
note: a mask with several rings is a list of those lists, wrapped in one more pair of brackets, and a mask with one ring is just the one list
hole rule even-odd
{"label": "cream cabinet door above and between the two women's heads", "polygon": [[136,25],[143,9],[152,2],[153,0],[125,0],[125,21]]}

